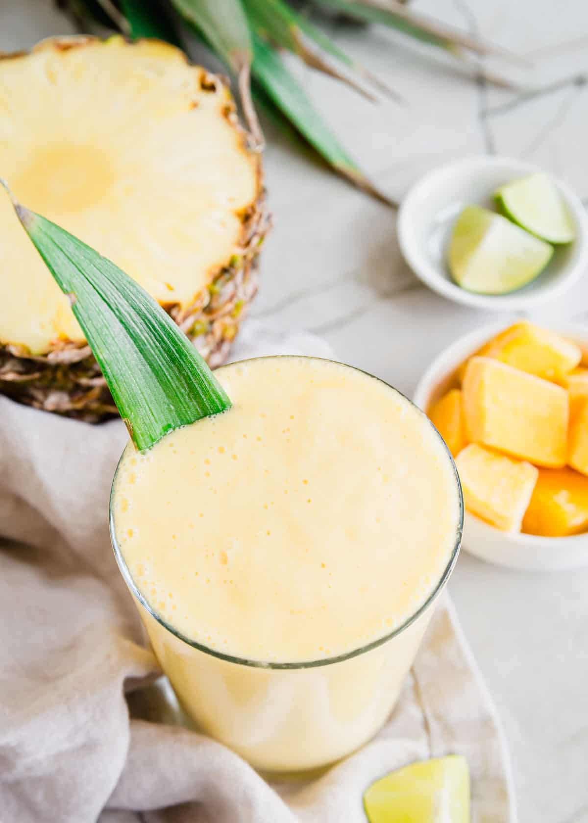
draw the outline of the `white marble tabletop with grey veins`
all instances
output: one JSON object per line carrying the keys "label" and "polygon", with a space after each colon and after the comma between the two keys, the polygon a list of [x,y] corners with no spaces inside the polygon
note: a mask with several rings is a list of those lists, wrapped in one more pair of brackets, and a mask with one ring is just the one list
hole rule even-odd
{"label": "white marble tabletop with grey veins", "polygon": [[[588,202],[585,0],[414,2],[534,57],[532,69],[496,61],[488,68],[544,91],[525,99],[489,88],[450,59],[385,30],[334,26],[338,42],[409,101],[372,106],[296,68],[373,178],[399,198],[435,165],[495,152],[544,165]],[[68,30],[49,0],[0,0],[0,49]],[[255,316],[317,332],[339,359],[412,393],[442,346],[496,315],[427,291],[399,256],[394,212],[310,163],[271,129],[268,137],[276,227]],[[534,316],[588,323],[588,278]],[[588,821],[588,569],[520,574],[463,555],[450,589],[502,715],[521,823]]]}

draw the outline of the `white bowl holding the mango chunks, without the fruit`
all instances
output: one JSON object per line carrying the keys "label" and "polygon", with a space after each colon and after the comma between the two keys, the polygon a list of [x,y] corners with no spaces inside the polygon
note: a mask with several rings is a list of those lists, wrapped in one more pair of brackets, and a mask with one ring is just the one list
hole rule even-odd
{"label": "white bowl holding the mango chunks, without the fruit", "polygon": [[[577,323],[544,325],[575,341],[588,356],[588,327]],[[441,351],[418,382],[413,398],[416,405],[426,411],[429,404],[454,383],[457,367],[503,328],[504,323],[486,326],[460,337]],[[512,534],[501,532],[470,512],[465,513],[462,545],[472,555],[511,569],[554,571],[588,565],[588,532],[573,537]]]}

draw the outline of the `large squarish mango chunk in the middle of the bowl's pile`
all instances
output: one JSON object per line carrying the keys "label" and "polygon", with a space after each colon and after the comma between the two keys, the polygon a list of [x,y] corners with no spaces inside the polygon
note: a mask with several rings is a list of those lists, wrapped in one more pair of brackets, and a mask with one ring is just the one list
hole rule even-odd
{"label": "large squarish mango chunk in the middle of the bowl's pile", "polygon": [[465,370],[465,429],[480,443],[539,466],[567,463],[567,391],[489,357]]}

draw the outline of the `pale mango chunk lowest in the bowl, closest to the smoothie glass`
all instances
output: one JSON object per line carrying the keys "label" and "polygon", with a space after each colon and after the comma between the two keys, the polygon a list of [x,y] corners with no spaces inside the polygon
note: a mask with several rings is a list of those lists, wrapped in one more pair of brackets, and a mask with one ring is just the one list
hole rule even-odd
{"label": "pale mango chunk lowest in the bowl, closest to the smoothie glass", "polygon": [[539,469],[475,443],[457,455],[455,465],[465,508],[503,532],[520,532]]}

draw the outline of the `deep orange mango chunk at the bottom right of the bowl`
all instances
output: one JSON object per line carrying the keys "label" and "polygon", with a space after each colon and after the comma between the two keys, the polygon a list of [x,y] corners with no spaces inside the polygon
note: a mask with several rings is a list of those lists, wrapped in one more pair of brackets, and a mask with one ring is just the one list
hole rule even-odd
{"label": "deep orange mango chunk at the bottom right of the bowl", "polygon": [[541,468],[523,531],[567,537],[588,530],[588,477],[571,468]]}

